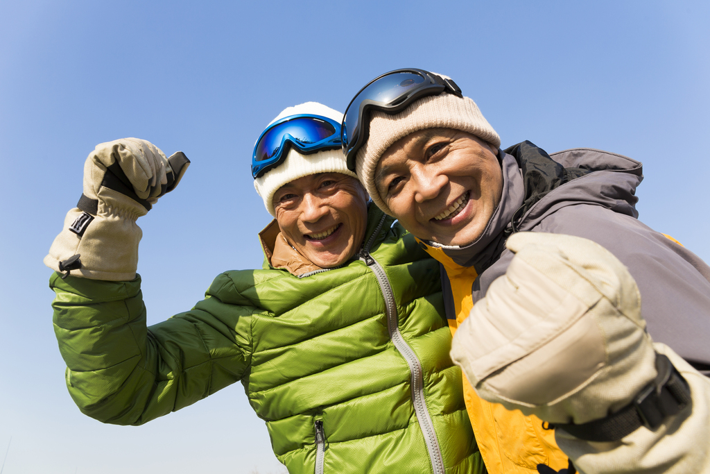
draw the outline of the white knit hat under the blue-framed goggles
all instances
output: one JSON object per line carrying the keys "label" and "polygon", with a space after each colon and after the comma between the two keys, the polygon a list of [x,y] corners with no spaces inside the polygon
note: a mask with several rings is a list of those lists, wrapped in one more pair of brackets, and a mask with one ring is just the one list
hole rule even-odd
{"label": "white knit hat under the blue-framed goggles", "polygon": [[[318,102],[306,102],[305,104],[284,109],[269,125],[284,117],[296,114],[322,115],[338,123],[343,119],[343,114],[337,110],[333,110]],[[273,208],[273,195],[278,188],[303,176],[316,173],[343,173],[347,176],[357,178],[355,173],[349,171],[347,168],[341,149],[323,150],[310,155],[302,155],[292,146],[288,150],[288,154],[283,163],[275,168],[271,168],[271,170],[254,180],[254,188],[256,188],[256,192],[259,193],[263,199],[264,206],[269,214],[276,217]]]}

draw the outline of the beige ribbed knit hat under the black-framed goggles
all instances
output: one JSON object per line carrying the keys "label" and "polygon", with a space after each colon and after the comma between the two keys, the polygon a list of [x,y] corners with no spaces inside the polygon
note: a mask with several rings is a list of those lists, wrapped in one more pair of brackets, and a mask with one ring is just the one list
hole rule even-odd
{"label": "beige ribbed knit hat under the black-framed goggles", "polygon": [[373,110],[370,112],[369,124],[368,139],[357,151],[356,172],[377,207],[389,215],[392,215],[392,211],[377,192],[374,176],[378,161],[395,141],[415,131],[442,128],[466,131],[496,148],[501,146],[501,138],[481,114],[476,102],[469,97],[457,97],[453,94],[422,97],[402,112],[393,115]]}

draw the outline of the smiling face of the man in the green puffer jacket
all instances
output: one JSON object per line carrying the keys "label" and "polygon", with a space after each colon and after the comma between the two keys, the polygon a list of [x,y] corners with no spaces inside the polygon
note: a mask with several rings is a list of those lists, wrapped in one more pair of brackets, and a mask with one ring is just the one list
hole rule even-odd
{"label": "smiling face of the man in the green puffer jacket", "polygon": [[355,178],[318,173],[281,186],[273,205],[288,243],[317,266],[332,268],[360,248],[367,227],[367,200]]}

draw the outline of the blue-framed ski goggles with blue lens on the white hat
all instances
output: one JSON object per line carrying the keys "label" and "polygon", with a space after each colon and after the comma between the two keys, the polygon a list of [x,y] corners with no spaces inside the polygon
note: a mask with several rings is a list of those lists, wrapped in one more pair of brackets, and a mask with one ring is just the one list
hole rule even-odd
{"label": "blue-framed ski goggles with blue lens on the white hat", "polygon": [[283,163],[289,146],[304,155],[339,149],[340,124],[313,114],[290,115],[274,122],[256,141],[251,157],[251,176],[256,179]]}

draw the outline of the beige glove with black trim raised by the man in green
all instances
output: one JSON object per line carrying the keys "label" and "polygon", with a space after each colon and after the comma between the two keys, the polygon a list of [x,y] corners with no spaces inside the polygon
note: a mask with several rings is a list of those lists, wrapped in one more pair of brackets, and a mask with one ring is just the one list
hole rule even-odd
{"label": "beige glove with black trim raised by the man in green", "polygon": [[181,151],[165,158],[141,139],[97,145],[84,163],[84,193],[67,213],[45,265],[90,279],[134,279],[143,235],[136,219],[178,185],[189,165]]}

